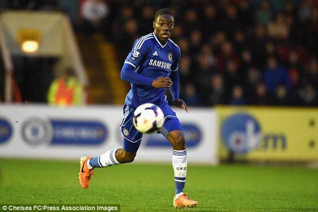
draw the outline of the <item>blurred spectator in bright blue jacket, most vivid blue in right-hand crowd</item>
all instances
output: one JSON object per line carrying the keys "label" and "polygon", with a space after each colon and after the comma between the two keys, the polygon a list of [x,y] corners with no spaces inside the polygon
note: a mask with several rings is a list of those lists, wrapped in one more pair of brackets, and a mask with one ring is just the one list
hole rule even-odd
{"label": "blurred spectator in bright blue jacket, most vivid blue in right-hand crowd", "polygon": [[264,72],[263,79],[266,88],[270,93],[274,93],[277,86],[282,83],[286,86],[286,89],[289,89],[290,87],[290,82],[285,69],[283,67],[278,67],[277,61],[273,57],[270,57],[267,60],[267,68]]}

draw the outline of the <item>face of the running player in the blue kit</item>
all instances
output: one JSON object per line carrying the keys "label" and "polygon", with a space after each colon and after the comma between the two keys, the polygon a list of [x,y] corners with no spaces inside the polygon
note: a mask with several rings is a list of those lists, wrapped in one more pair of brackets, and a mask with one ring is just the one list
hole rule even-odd
{"label": "face of the running player in the blue kit", "polygon": [[175,20],[170,15],[160,15],[157,20],[153,22],[154,34],[160,41],[166,42],[171,37],[174,30]]}

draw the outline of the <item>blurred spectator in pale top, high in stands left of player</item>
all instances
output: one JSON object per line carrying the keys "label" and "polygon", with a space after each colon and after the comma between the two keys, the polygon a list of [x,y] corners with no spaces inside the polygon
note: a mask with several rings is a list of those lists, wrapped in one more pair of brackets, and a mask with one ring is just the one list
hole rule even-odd
{"label": "blurred spectator in pale top, high in stands left of player", "polygon": [[86,0],[81,8],[86,33],[101,32],[109,15],[109,8],[102,0]]}

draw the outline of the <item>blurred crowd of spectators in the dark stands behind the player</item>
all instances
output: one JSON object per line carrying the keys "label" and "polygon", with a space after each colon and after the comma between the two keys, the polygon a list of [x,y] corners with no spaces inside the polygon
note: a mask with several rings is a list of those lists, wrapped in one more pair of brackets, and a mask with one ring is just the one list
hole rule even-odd
{"label": "blurred crowd of spectators in the dark stands behind the player", "polygon": [[[9,7],[15,2],[23,1]],[[318,105],[318,1],[24,2],[64,11],[78,32],[102,33],[115,44],[119,63],[135,39],[153,31],[154,13],[171,9],[172,39],[182,52],[181,98],[189,105]]]}

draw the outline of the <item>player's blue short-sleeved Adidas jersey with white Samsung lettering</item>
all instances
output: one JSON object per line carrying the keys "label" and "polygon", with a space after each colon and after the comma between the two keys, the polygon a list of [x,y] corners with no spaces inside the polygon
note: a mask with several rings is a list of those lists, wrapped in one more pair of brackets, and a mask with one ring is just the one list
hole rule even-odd
{"label": "player's blue short-sleeved Adidas jersey with white Samsung lettering", "polygon": [[[172,71],[177,71],[181,51],[177,44],[168,40],[162,45],[154,33],[138,38],[129,52],[125,64],[144,77],[156,79],[169,77]],[[139,84],[131,84],[125,103],[130,107],[138,107],[143,103],[160,104],[166,101],[165,88],[154,88]]]}

